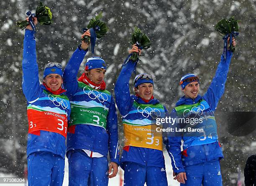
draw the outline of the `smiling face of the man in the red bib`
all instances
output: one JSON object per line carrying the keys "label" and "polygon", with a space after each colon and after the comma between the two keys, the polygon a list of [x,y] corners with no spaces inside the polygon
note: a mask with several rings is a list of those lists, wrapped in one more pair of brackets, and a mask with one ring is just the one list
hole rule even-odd
{"label": "smiling face of the man in the red bib", "polygon": [[56,91],[61,87],[63,79],[59,74],[49,74],[44,78],[44,83],[47,87],[51,88],[52,91]]}

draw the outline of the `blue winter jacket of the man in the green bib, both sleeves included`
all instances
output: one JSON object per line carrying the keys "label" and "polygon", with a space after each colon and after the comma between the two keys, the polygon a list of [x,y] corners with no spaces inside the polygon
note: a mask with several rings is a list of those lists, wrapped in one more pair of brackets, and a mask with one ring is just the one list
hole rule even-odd
{"label": "blue winter jacket of the man in the green bib, both sleeves included", "polygon": [[[90,98],[88,94],[76,96],[79,91],[77,82],[77,73],[79,66],[88,50],[84,51],[77,48],[64,69],[64,88],[66,94],[72,102],[82,102]],[[105,157],[110,155],[110,161],[119,165],[119,141],[118,141],[118,121],[115,108],[115,102],[111,95],[111,102],[108,107],[106,129],[94,125],[78,124],[75,125],[75,132],[67,134],[67,153],[74,149],[87,149],[100,153]],[[72,119],[72,118],[71,118]]]}

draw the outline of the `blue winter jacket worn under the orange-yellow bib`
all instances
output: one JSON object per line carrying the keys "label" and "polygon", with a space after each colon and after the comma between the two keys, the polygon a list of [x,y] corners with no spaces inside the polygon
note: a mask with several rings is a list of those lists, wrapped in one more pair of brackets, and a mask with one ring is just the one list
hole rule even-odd
{"label": "blue winter jacket worn under the orange-yellow bib", "polygon": [[[129,80],[135,68],[136,62],[133,62],[131,60],[126,61],[123,65],[122,70],[120,71],[120,75],[118,76],[117,82],[115,84],[115,100],[118,106],[118,110],[122,116],[127,115],[131,111],[134,101],[138,102],[139,104],[159,103],[157,99],[151,99],[148,103],[146,103],[140,97],[136,97],[130,94]],[[165,107],[164,110],[167,114],[167,110]],[[135,146],[128,146],[128,148],[125,147],[120,158],[120,166],[121,168],[123,168],[123,170],[124,163],[127,161],[140,163],[145,166],[156,166],[165,168],[163,151],[152,148],[142,148]]]}

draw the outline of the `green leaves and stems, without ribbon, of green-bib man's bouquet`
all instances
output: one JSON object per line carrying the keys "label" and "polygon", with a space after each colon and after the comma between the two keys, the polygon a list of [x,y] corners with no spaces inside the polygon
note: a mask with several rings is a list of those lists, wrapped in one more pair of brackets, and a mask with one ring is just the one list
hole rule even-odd
{"label": "green leaves and stems, without ribbon, of green-bib man's bouquet", "polygon": [[[104,21],[100,20],[100,18],[102,18],[102,13],[99,13],[99,15],[90,20],[87,28],[84,28],[84,32],[87,31],[87,29],[93,28],[98,39],[107,36],[107,32],[109,30],[108,25]],[[81,40],[85,43],[90,43],[89,36],[84,36]]]}

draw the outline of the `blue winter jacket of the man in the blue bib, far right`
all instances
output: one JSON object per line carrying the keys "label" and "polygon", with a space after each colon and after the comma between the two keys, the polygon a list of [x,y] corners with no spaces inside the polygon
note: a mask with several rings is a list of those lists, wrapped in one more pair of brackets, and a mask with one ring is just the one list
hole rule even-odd
{"label": "blue winter jacket of the man in the blue bib, far right", "polygon": [[[207,89],[207,92],[202,97],[198,95],[195,99],[192,99],[183,96],[177,102],[176,107],[184,104],[191,105],[205,100],[206,104],[205,109],[203,110],[204,117],[214,117],[214,111],[217,107],[218,101],[224,93],[231,57],[232,52],[230,51],[228,51],[226,61],[224,60],[224,54],[221,56],[221,61],[218,64],[215,77],[212,79],[212,83]],[[175,109],[172,110],[171,117],[177,117],[177,111]],[[178,125],[180,124],[174,124],[175,127]],[[196,136],[182,137],[182,133],[178,133],[173,137],[168,137],[168,140],[165,141],[166,148],[172,160],[172,168],[176,174],[185,172],[184,167],[186,166],[211,160],[220,160],[223,158],[222,149],[218,142],[217,135],[216,138],[211,137],[212,140],[205,143],[203,141],[198,142],[198,138]],[[206,136],[206,138],[208,137]],[[184,141],[183,144],[181,140]],[[198,143],[201,143],[201,145],[197,145]],[[183,145],[183,152],[181,152],[181,145]]]}

